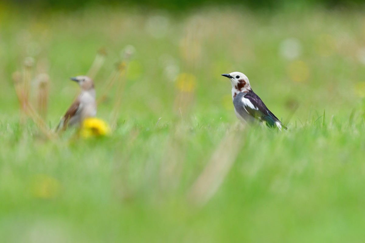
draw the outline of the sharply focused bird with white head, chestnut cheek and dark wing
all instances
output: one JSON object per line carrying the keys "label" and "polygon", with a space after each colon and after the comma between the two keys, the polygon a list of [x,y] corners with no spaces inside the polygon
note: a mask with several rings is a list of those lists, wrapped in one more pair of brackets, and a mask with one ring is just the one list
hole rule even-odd
{"label": "sharply focused bird with white head, chestnut cheek and dark wing", "polygon": [[249,79],[242,72],[222,74],[231,81],[234,111],[242,122],[260,121],[267,126],[287,129],[286,126],[266,107],[264,102],[251,89]]}

